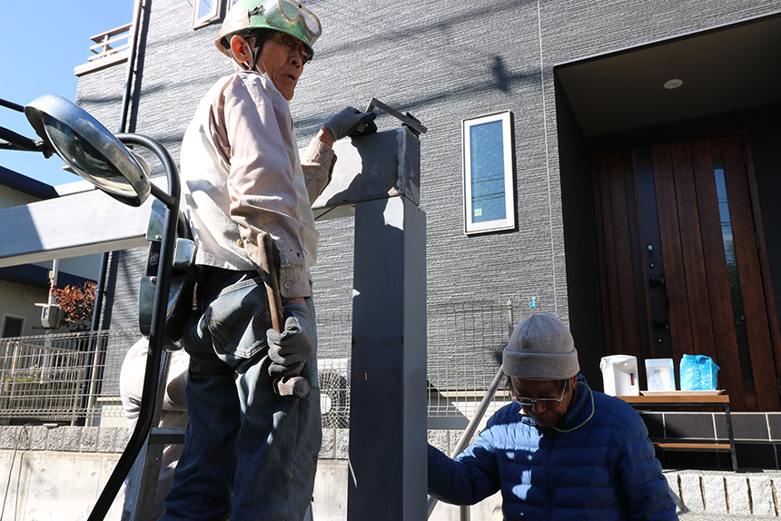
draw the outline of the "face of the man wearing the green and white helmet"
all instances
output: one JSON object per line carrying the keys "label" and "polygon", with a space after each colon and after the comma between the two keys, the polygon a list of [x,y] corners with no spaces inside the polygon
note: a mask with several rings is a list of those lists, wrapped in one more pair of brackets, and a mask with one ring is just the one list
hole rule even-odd
{"label": "face of the man wearing the green and white helmet", "polygon": [[290,101],[303,72],[303,58],[307,54],[306,47],[300,41],[289,34],[277,33],[263,43],[255,63],[262,73],[269,75],[285,99]]}

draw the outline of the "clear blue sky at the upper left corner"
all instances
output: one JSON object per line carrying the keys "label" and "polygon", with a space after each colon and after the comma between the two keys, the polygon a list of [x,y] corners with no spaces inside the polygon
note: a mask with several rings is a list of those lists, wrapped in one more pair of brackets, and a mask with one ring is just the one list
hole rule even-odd
{"label": "clear blue sky at the upper left corner", "polygon": [[[0,17],[0,98],[24,105],[42,94],[76,95],[74,67],[95,34],[133,21],[135,0],[10,1]],[[22,113],[0,106],[0,126],[36,138]],[[0,166],[48,184],[78,181],[56,156],[0,150]]]}

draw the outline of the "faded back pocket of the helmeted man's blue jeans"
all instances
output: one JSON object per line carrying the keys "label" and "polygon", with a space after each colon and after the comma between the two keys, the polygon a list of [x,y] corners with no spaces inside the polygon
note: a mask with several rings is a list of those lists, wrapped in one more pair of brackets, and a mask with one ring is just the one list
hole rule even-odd
{"label": "faded back pocket of the helmeted man's blue jeans", "polygon": [[266,330],[272,327],[271,315],[260,277],[222,289],[204,317],[214,352],[233,369],[243,372],[268,351]]}

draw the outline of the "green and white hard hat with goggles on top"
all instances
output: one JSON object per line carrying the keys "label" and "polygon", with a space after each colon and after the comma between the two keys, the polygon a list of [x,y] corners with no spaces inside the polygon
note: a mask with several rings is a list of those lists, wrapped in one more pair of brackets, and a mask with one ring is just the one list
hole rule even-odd
{"label": "green and white hard hat with goggles on top", "polygon": [[230,57],[233,34],[249,34],[258,29],[290,34],[301,40],[312,55],[312,47],[322,32],[317,16],[292,0],[237,0],[225,15],[214,44]]}

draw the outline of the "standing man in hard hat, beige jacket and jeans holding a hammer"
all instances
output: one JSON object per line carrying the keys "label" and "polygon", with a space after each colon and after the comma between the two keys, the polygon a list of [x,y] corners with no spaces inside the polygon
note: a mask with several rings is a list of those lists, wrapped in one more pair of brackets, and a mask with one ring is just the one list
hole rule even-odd
{"label": "standing man in hard hat, beige jacket and jeans holding a hammer", "polygon": [[[311,502],[321,446],[311,202],[331,180],[332,143],[375,117],[344,109],[299,157],[288,103],[320,35],[317,16],[289,0],[233,4],[215,44],[236,72],[184,134],[183,207],[201,274],[184,338],[189,423],[164,521],[300,521]],[[266,234],[280,254],[281,333],[259,276]],[[311,383],[305,398],[272,390],[292,375]]]}

